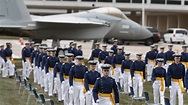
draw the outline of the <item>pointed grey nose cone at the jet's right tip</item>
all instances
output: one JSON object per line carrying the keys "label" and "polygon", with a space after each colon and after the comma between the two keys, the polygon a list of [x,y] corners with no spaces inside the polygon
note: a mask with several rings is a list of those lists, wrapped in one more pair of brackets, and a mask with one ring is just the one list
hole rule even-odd
{"label": "pointed grey nose cone at the jet's right tip", "polygon": [[140,29],[141,29],[141,37],[143,37],[143,39],[147,39],[153,36],[152,33],[145,27],[141,26]]}

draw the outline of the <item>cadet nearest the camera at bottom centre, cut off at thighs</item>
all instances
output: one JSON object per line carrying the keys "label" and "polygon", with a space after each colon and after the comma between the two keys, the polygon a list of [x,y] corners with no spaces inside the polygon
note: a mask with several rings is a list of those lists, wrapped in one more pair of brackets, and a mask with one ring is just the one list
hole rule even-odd
{"label": "cadet nearest the camera at bottom centre, cut off at thighs", "polygon": [[115,80],[109,77],[109,69],[110,65],[102,65],[102,73],[104,76],[96,80],[93,88],[93,98],[98,105],[119,105],[118,88]]}

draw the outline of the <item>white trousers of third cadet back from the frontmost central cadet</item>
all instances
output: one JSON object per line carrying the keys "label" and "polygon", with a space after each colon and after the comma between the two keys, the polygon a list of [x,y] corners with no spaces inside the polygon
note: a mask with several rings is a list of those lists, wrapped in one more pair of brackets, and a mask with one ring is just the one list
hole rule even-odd
{"label": "white trousers of third cadet back from the frontmost central cadet", "polygon": [[85,105],[84,85],[82,82],[73,82],[74,105]]}

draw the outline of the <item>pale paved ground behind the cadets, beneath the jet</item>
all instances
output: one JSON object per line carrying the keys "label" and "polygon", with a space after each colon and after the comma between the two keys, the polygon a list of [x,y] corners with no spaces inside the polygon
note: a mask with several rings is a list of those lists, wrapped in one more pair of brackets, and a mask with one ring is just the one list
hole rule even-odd
{"label": "pale paved ground behind the cadets, beneath the jet", "polygon": [[[13,57],[14,58],[21,58],[21,49],[23,48],[23,45],[20,44],[19,40],[0,40],[2,44],[5,44],[6,42],[11,42],[13,45]],[[24,40],[24,42],[27,42]],[[70,40],[64,40],[60,42],[61,47],[68,47],[69,46]],[[46,40],[43,41],[43,43],[48,44],[51,46],[52,40]],[[77,41],[77,44],[82,44],[83,46],[83,56],[85,58],[89,58],[90,53],[91,53],[91,47],[92,47],[92,41],[90,42],[81,42]],[[164,46],[165,50],[167,50],[167,43],[159,42],[159,46]],[[108,45],[107,49],[110,49],[112,45]],[[131,58],[135,59],[136,53],[142,53],[144,56],[146,52],[150,49],[148,46],[142,45],[142,44],[131,44],[131,45],[121,45],[124,46],[125,52],[130,52],[131,53]],[[181,46],[182,44],[174,44],[174,50],[181,52]]]}

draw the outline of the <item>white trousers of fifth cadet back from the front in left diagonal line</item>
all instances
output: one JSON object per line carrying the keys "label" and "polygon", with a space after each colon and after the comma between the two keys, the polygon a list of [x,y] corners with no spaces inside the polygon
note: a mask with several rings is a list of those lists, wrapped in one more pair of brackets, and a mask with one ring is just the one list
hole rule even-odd
{"label": "white trousers of fifth cadet back from the front in left diagonal line", "polygon": [[58,101],[62,101],[61,81],[59,73],[57,73],[56,76],[56,80],[54,81],[54,91],[57,91]]}

